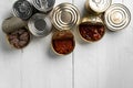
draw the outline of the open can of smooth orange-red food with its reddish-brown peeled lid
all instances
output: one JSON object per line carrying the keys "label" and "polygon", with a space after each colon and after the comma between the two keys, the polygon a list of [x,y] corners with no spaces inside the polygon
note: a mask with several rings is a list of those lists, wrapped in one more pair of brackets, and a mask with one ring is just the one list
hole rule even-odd
{"label": "open can of smooth orange-red food with its reddish-brown peeled lid", "polygon": [[52,36],[52,50],[58,55],[68,55],[75,46],[74,35],[69,30],[58,31]]}

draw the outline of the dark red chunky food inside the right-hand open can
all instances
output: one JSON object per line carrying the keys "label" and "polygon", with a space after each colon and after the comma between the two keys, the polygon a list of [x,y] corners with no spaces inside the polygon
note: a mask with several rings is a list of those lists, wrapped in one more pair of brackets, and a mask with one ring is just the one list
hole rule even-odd
{"label": "dark red chunky food inside the right-hand open can", "polygon": [[80,34],[86,41],[99,41],[104,35],[105,29],[103,24],[93,24],[84,22],[79,25]]}

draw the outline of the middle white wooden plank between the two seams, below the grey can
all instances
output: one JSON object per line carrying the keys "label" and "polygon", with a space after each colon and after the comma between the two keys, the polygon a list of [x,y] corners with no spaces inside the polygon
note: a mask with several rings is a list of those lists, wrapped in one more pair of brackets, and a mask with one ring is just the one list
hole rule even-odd
{"label": "middle white wooden plank between the two seams, below the grey can", "polygon": [[[63,2],[57,0],[58,3]],[[68,0],[68,2],[72,2]],[[47,37],[33,37],[22,55],[23,88],[71,88],[72,54],[57,56],[50,47],[50,34]]]}

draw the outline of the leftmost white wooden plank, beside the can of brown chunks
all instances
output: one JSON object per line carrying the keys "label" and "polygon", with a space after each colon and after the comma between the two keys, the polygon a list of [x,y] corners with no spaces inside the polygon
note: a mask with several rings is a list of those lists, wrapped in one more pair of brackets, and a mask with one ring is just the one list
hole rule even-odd
{"label": "leftmost white wooden plank, beside the can of brown chunks", "polygon": [[[0,26],[11,14],[12,3],[11,0],[0,0]],[[10,47],[0,29],[0,88],[21,88],[20,61],[21,51]]]}

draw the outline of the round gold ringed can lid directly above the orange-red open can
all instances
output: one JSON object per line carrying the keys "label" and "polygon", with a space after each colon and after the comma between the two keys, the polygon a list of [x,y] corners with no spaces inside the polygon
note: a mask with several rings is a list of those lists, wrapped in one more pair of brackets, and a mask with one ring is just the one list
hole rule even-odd
{"label": "round gold ringed can lid directly above the orange-red open can", "polygon": [[58,30],[70,30],[80,20],[80,13],[75,6],[61,3],[51,13],[52,23]]}

